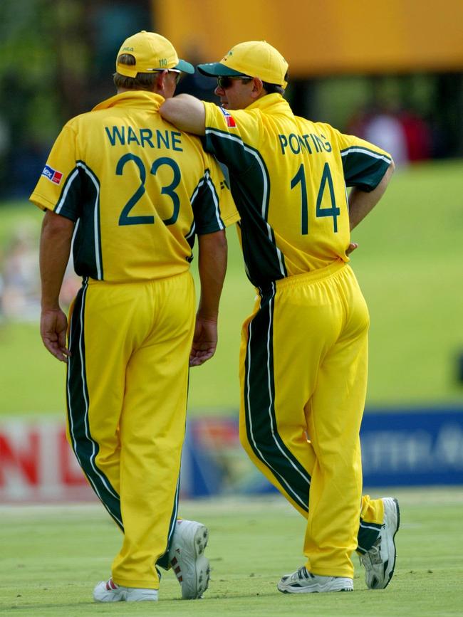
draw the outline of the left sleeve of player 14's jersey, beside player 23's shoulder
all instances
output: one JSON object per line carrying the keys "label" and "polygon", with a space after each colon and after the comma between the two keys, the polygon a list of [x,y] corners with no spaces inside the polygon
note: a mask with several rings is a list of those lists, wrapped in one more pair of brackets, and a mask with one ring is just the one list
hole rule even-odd
{"label": "left sleeve of player 14's jersey, beside player 23's shoulder", "polygon": [[262,134],[258,110],[224,110],[204,102],[206,112],[204,149],[227,164],[231,172],[245,173],[256,158],[251,144],[259,144]]}

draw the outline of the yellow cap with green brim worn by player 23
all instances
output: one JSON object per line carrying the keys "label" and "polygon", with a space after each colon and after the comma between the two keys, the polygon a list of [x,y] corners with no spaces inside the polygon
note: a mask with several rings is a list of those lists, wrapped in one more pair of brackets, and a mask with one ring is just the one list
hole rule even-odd
{"label": "yellow cap with green brim worn by player 23", "polygon": [[[120,64],[117,58],[122,53],[131,53],[134,65]],[[142,30],[123,42],[116,58],[116,70],[120,75],[136,77],[137,73],[151,73],[155,70],[175,68],[184,73],[194,73],[194,66],[185,60],[179,60],[177,52],[167,38],[155,32]]]}

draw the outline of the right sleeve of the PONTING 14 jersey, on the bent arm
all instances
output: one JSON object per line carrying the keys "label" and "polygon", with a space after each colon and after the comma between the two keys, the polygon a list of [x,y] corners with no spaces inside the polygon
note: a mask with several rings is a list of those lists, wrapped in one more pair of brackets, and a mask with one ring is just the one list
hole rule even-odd
{"label": "right sleeve of the PONTING 14 jersey, on the bent arm", "polygon": [[338,131],[335,134],[346,186],[357,186],[368,193],[373,191],[390,166],[392,157],[378,146],[365,142],[365,139],[343,135]]}

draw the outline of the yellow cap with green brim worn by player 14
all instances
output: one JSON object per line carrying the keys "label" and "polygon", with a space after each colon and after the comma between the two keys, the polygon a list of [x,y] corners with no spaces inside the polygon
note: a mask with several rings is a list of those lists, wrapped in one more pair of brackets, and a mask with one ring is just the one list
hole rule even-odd
{"label": "yellow cap with green brim worn by player 14", "polygon": [[285,80],[288,63],[281,53],[266,41],[238,43],[220,62],[199,64],[198,70],[203,75],[212,77],[249,75],[283,88],[288,85]]}

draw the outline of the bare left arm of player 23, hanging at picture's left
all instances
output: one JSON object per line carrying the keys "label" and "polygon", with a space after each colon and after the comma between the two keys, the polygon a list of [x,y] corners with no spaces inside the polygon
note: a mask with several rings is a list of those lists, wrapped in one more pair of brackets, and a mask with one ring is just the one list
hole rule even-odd
{"label": "bare left arm of player 23, hanging at picture's left", "polygon": [[40,334],[46,349],[61,362],[71,355],[66,348],[68,320],[59,305],[59,293],[68,264],[74,222],[46,211],[40,238]]}

